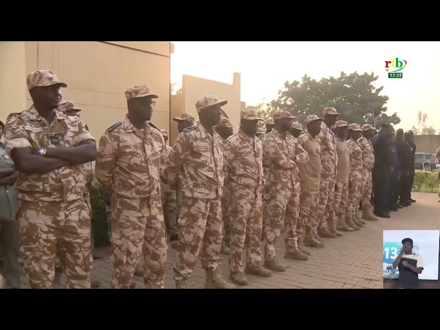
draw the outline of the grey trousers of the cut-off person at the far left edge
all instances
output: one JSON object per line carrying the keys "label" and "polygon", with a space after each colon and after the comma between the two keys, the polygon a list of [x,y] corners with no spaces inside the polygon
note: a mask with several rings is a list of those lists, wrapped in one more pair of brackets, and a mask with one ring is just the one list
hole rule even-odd
{"label": "grey trousers of the cut-off person at the far left edge", "polygon": [[0,246],[3,251],[5,289],[21,289],[19,221],[0,221]]}

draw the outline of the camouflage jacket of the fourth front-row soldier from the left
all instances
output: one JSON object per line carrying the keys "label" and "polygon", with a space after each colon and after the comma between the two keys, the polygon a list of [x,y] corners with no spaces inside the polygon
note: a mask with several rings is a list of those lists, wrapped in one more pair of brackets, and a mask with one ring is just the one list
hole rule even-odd
{"label": "camouflage jacket of the fourth front-row soldier from the left", "polygon": [[231,183],[263,192],[263,143],[258,137],[239,130],[225,141],[223,155]]}

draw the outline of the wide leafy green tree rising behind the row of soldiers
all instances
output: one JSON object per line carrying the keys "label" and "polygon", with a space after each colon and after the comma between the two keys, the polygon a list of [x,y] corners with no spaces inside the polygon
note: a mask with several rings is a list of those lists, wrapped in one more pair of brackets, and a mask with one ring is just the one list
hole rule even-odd
{"label": "wide leafy green tree rising behind the row of soldiers", "polygon": [[309,114],[322,115],[325,107],[335,107],[347,122],[375,124],[377,113],[377,124],[398,124],[400,118],[397,113],[386,114],[384,105],[388,96],[380,95],[384,87],[373,86],[377,78],[373,72],[362,75],[358,72],[349,75],[341,72],[338,78],[316,81],[306,74],[301,82],[286,81],[284,90],[278,91],[278,98],[271,105],[273,108],[286,109],[301,123]]}

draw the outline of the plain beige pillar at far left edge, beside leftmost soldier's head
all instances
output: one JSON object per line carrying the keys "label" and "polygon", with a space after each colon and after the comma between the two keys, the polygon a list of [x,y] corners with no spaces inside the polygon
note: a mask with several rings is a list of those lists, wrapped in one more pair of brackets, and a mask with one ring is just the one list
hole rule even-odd
{"label": "plain beige pillar at far left edge, beside leftmost soldier's head", "polygon": [[25,41],[0,42],[0,118],[26,109]]}

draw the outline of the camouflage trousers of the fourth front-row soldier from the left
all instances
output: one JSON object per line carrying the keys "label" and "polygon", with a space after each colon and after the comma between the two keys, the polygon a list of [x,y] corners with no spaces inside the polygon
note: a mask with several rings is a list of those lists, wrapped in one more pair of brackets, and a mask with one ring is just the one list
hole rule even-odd
{"label": "camouflage trousers of the fourth front-row soldier from the left", "polygon": [[243,272],[243,248],[248,265],[261,265],[261,231],[263,197],[261,192],[234,184],[230,204],[231,236],[229,267],[234,273]]}

